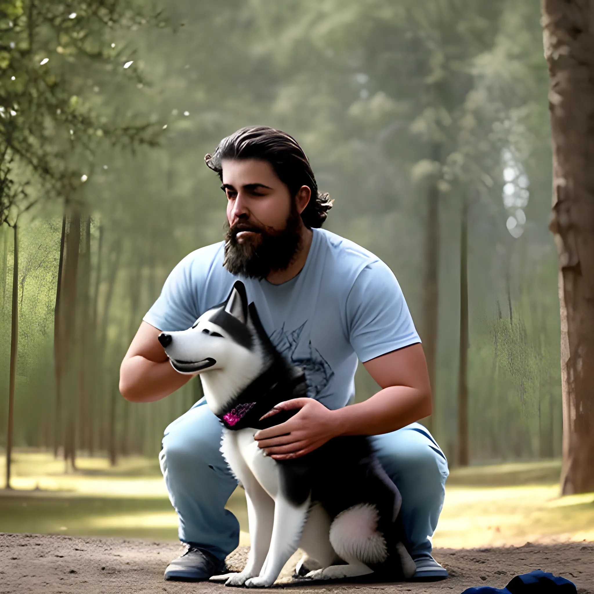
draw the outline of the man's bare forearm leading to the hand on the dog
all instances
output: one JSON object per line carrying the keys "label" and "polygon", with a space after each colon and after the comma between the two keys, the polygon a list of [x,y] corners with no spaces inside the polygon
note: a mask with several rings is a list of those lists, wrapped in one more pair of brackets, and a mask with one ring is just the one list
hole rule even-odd
{"label": "man's bare forearm leading to the hand on the dog", "polygon": [[390,386],[365,402],[332,411],[339,435],[380,435],[431,415],[431,393]]}

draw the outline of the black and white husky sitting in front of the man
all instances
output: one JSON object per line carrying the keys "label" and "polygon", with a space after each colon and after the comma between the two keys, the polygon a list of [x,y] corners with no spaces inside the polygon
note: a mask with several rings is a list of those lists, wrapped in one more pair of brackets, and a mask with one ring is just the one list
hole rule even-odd
{"label": "black and white husky sitting in front of the man", "polygon": [[258,447],[258,429],[296,413],[263,419],[275,405],[303,397],[307,383],[264,331],[241,281],[225,303],[194,326],[159,335],[170,362],[199,372],[206,401],[223,424],[221,451],[245,488],[251,549],[241,573],[213,576],[228,586],[271,586],[301,546],[295,571],[312,579],[375,572],[384,580],[412,577],[399,516],[402,498],[364,436],[336,437],[305,456],[277,461]]}

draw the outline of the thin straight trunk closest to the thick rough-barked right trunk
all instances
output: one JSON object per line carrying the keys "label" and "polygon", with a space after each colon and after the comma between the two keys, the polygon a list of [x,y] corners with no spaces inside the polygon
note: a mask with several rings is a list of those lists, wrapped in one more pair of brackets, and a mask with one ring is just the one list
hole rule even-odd
{"label": "thin straight trunk closest to the thick rough-barked right trunk", "polygon": [[458,463],[468,466],[468,211],[462,206],[460,232],[460,359],[458,367]]}

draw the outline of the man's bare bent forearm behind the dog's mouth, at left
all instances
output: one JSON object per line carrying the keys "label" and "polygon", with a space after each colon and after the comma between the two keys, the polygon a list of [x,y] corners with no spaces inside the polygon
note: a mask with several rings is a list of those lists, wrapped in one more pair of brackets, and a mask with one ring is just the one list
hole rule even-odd
{"label": "man's bare bent forearm behind the dog's mouth, at left", "polygon": [[169,361],[154,362],[136,355],[124,359],[119,371],[119,391],[131,402],[153,402],[169,396],[191,380]]}

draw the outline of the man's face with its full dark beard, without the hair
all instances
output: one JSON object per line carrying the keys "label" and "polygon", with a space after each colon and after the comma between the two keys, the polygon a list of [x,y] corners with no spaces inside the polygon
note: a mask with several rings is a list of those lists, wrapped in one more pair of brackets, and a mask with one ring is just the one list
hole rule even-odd
{"label": "man's face with its full dark beard, without the hair", "polygon": [[232,274],[260,279],[284,270],[302,228],[289,188],[266,161],[223,160],[222,167],[229,223],[223,265]]}

